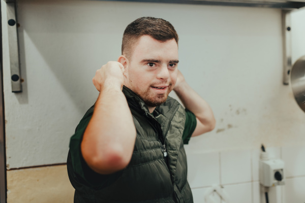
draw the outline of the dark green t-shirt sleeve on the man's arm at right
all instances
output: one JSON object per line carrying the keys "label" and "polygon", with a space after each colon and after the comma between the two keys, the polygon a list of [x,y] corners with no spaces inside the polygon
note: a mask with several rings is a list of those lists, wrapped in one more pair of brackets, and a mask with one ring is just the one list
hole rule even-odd
{"label": "dark green t-shirt sleeve on the man's arm at right", "polygon": [[182,140],[184,144],[189,144],[192,134],[196,128],[197,120],[195,114],[186,109],[186,124],[182,134]]}

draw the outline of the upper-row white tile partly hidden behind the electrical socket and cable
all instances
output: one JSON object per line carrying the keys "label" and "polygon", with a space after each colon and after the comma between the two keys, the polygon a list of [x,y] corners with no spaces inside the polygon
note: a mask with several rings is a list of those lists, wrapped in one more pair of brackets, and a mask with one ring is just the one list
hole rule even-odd
{"label": "upper-row white tile partly hidden behind the electrical socket and cable", "polygon": [[[270,158],[281,158],[280,147],[269,147],[266,148]],[[259,181],[259,159],[261,149],[255,149],[251,151],[252,155],[252,181]]]}

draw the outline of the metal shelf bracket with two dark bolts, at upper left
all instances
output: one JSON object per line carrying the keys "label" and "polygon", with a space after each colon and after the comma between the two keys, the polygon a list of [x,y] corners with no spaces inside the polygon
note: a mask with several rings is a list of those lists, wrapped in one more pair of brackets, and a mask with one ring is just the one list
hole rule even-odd
{"label": "metal shelf bracket with two dark bolts, at upper left", "polygon": [[11,84],[12,92],[22,92],[20,63],[19,63],[19,46],[18,46],[18,32],[17,32],[17,17],[16,17],[16,3],[14,1],[7,2],[7,16],[8,16],[8,38],[10,49],[10,66],[11,66]]}

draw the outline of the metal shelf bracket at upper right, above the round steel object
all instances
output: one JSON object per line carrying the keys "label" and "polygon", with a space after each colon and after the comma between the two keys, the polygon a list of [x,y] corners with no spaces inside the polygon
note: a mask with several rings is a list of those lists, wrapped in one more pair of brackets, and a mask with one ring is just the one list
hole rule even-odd
{"label": "metal shelf bracket at upper right, above the round steel object", "polygon": [[291,72],[291,11],[282,10],[282,29],[283,29],[283,84],[289,84]]}

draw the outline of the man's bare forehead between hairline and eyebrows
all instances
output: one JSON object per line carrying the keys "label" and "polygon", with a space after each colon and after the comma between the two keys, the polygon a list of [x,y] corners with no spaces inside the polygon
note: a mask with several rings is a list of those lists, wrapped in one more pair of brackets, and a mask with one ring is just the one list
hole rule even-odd
{"label": "man's bare forehead between hairline and eyebrows", "polygon": [[161,42],[145,35],[140,37],[134,45],[132,58],[133,60],[143,58],[178,60],[178,45],[175,39]]}

